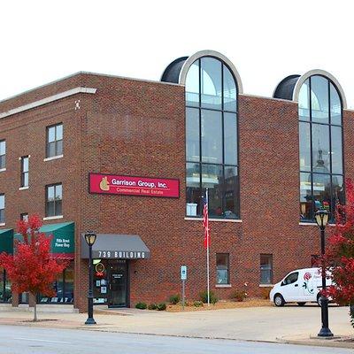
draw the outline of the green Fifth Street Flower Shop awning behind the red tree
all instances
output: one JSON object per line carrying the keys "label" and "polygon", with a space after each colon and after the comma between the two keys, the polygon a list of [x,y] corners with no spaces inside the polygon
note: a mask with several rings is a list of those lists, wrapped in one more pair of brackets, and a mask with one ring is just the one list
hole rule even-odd
{"label": "green Fifth Street Flower Shop awning behind the red tree", "polygon": [[[53,257],[73,259],[75,250],[73,222],[43,225],[39,232],[45,235],[52,235],[50,252]],[[21,241],[22,235],[16,234],[15,238]]]}

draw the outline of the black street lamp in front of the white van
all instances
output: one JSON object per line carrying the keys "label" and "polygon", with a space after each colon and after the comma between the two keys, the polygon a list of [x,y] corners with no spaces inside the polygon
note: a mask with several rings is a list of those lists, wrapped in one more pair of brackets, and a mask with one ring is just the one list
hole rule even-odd
{"label": "black street lamp in front of the white van", "polygon": [[[325,255],[325,228],[327,226],[329,217],[329,212],[326,210],[319,210],[315,212],[316,223],[319,226],[320,235],[321,235],[321,255],[322,258]],[[326,267],[322,260],[322,290],[326,290]],[[320,305],[321,305],[321,320],[322,320],[322,328],[319,331],[319,337],[332,337],[333,333],[328,327],[328,299],[327,296],[322,294],[319,297]]]}

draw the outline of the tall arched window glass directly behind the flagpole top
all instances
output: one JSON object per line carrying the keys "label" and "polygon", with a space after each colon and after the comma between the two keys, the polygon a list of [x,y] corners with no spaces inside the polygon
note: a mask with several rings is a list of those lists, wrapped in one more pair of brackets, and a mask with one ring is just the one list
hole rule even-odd
{"label": "tall arched window glass directly behind the flagpole top", "polygon": [[240,216],[237,82],[219,58],[197,58],[186,76],[187,216],[201,216],[205,189],[212,218]]}

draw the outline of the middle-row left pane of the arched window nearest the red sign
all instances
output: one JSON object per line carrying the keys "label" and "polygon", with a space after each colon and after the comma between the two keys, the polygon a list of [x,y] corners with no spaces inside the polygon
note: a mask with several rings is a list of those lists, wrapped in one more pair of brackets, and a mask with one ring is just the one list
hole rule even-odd
{"label": "middle-row left pane of the arched window nearest the red sign", "polygon": [[186,110],[186,158],[199,161],[199,109]]}

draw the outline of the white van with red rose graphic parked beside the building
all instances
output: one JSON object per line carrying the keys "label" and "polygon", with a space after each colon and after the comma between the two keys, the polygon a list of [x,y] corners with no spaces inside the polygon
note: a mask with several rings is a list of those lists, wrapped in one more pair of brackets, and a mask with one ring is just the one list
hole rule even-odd
{"label": "white van with red rose graphic parked beside the building", "polygon": [[[319,290],[322,289],[320,271],[320,268],[305,268],[290,272],[274,285],[269,295],[270,301],[275,306],[284,306],[286,303],[297,303],[299,306],[319,304]],[[326,286],[330,285],[332,281],[327,279]]]}

